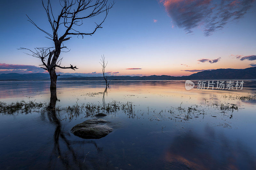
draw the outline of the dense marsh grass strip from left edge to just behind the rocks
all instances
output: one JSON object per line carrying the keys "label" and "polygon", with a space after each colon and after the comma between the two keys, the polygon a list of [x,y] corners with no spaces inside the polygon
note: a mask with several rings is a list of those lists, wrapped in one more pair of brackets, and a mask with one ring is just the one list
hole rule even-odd
{"label": "dense marsh grass strip from left edge to just behind the rocks", "polygon": [[116,114],[118,111],[122,110],[125,114],[128,115],[128,117],[134,118],[135,112],[134,112],[134,106],[132,105],[132,102],[117,102],[116,100],[109,102],[107,104],[94,104],[94,103],[78,103],[66,106],[66,107],[47,107],[46,102],[44,103],[38,103],[35,100],[34,101],[24,101],[21,100],[20,102],[12,102],[11,104],[7,104],[5,102],[0,101],[0,113],[3,113],[5,115],[12,115],[15,113],[31,113],[31,112],[45,112],[45,111],[51,111],[55,113],[59,113],[60,111],[66,111],[68,115],[68,119],[71,120],[75,117],[78,117],[80,114],[85,114],[86,117],[94,116],[100,112],[105,113],[114,113]]}

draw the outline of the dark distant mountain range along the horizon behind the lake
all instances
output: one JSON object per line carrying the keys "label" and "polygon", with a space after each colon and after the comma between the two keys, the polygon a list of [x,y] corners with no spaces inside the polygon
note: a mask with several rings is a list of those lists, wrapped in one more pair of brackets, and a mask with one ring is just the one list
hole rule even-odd
{"label": "dark distant mountain range along the horizon behind the lake", "polygon": [[[108,76],[109,80],[255,80],[256,67],[246,69],[216,69],[206,70],[191,74],[190,76]],[[0,74],[0,80],[50,80],[49,74],[46,73],[31,73],[31,74],[18,74],[8,73]],[[103,80],[102,77],[83,77],[73,75],[60,75],[58,80],[71,81],[71,80]]]}

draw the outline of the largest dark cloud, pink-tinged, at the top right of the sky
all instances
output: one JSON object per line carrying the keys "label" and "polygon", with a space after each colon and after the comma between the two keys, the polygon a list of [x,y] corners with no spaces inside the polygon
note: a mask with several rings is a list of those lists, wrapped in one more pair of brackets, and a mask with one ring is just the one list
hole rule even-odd
{"label": "largest dark cloud, pink-tinged, at the top right of the sky", "polygon": [[172,20],[187,33],[195,27],[203,27],[204,35],[223,29],[238,20],[252,7],[254,0],[159,0],[164,4]]}

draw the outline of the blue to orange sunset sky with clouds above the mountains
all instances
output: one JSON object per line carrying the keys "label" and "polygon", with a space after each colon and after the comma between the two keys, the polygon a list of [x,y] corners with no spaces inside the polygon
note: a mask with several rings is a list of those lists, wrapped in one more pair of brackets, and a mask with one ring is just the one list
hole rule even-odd
{"label": "blue to orange sunset sky with clouds above the mountains", "polygon": [[[52,0],[58,7],[59,0]],[[53,46],[26,14],[49,30],[40,0],[1,3],[1,73],[44,72],[40,59],[17,48]],[[59,8],[56,8],[56,15]],[[92,31],[90,19],[79,30]],[[65,41],[62,73],[101,76],[101,55],[109,75],[182,76],[200,70],[256,66],[256,2],[254,0],[116,0],[103,28],[92,36]],[[60,33],[59,33],[60,34]]]}

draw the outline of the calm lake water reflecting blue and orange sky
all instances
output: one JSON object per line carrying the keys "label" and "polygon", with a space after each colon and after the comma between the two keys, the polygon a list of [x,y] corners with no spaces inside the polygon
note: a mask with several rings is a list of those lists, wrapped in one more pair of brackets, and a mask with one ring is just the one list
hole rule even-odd
{"label": "calm lake water reflecting blue and orange sky", "polygon": [[[0,101],[50,102],[49,81],[1,81]],[[58,112],[0,115],[0,169],[256,169],[256,81],[243,90],[185,89],[185,81],[58,81]],[[65,107],[132,103],[100,111],[113,132],[83,139]]]}

